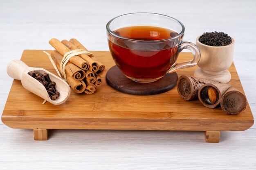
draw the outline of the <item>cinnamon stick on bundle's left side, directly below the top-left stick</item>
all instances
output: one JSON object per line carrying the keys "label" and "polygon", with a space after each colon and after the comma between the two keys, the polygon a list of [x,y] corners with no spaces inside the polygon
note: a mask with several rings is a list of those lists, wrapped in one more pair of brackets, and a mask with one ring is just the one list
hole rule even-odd
{"label": "cinnamon stick on bundle's left side, directly below the top-left stick", "polygon": [[[56,63],[58,70],[60,71],[60,63],[63,56],[60,53],[58,53],[56,50],[54,50],[51,54],[51,57]],[[76,65],[70,62],[67,62],[65,66],[65,73],[66,75],[70,75],[76,80],[82,80],[83,78],[85,78],[85,71],[81,70],[79,67],[77,67]]]}

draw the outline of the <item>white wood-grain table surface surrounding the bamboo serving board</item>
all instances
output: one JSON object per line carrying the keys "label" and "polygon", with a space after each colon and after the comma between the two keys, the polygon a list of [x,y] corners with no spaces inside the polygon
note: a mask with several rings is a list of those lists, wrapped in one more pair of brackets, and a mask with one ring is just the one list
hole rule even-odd
{"label": "white wood-grain table surface surrounding the bamboo serving board", "polygon": [[[256,117],[256,1],[249,0],[0,0],[0,112],[13,81],[6,66],[24,49],[53,49],[49,39],[77,38],[108,50],[106,23],[132,12],[162,13],[185,25],[184,41],[222,31],[236,40],[234,63]],[[22,99],[20,99],[22,100]],[[54,130],[48,141],[0,122],[0,169],[256,169],[256,126],[221,132]]]}

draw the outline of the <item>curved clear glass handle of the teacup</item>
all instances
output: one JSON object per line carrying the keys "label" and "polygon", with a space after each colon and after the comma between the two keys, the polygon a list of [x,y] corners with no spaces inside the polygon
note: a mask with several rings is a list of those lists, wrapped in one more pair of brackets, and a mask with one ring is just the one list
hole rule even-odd
{"label": "curved clear glass handle of the teacup", "polygon": [[184,69],[184,68],[190,68],[190,67],[194,67],[195,65],[197,65],[197,63],[199,62],[200,57],[201,57],[200,50],[199,50],[198,46],[196,46],[195,44],[193,44],[191,42],[182,42],[182,44],[179,45],[177,52],[181,52],[184,49],[190,50],[193,53],[194,58],[190,61],[184,61],[182,63],[175,63],[172,66],[172,68],[169,70],[168,73],[176,72],[177,70]]}

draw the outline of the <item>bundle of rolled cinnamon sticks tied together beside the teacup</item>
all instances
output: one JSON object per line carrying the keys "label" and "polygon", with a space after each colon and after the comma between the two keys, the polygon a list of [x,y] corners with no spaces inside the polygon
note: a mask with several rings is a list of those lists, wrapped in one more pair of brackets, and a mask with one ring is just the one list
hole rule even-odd
{"label": "bundle of rolled cinnamon sticks tied together beside the teacup", "polygon": [[[56,64],[59,72],[61,72],[61,61],[68,52],[77,49],[83,49],[88,51],[79,41],[76,39],[70,39],[70,41],[58,39],[50,39],[51,44],[55,50],[52,52],[51,57]],[[63,66],[64,67],[64,66]],[[105,69],[103,65],[93,54],[90,52],[86,54],[78,54],[71,57],[65,67],[62,75],[67,80],[70,87],[76,93],[93,94],[97,87],[102,83],[101,74]]]}

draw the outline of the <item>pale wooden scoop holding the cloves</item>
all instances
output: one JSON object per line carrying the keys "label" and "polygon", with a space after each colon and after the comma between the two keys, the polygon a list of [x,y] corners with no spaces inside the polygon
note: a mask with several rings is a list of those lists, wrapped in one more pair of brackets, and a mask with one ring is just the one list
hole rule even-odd
{"label": "pale wooden scoop holding the cloves", "polygon": [[[39,74],[43,74],[46,72],[47,74],[49,74],[49,78],[51,79],[51,81],[54,81],[56,83],[56,90],[60,92],[60,96],[56,98],[56,100],[52,100],[49,97],[45,87],[34,77],[28,74],[28,72],[31,72],[33,70],[38,72]],[[7,73],[11,78],[21,80],[22,86],[29,92],[32,92],[37,96],[40,96],[41,98],[47,100],[48,102],[54,105],[61,105],[70,96],[69,85],[58,76],[55,76],[54,74],[48,72],[43,68],[29,67],[20,60],[13,60],[7,66]]]}

